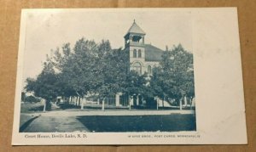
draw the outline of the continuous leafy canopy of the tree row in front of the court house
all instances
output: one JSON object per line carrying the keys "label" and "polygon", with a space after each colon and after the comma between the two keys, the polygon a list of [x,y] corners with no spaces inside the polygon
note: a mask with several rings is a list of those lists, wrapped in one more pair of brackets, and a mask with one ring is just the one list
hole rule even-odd
{"label": "continuous leafy canopy of the tree row in front of the court house", "polygon": [[181,45],[163,53],[152,76],[129,70],[129,53],[111,48],[108,40],[96,43],[83,37],[73,48],[65,43],[52,52],[42,72],[36,79],[27,78],[25,87],[47,103],[57,96],[84,98],[87,94],[105,98],[125,93],[145,99],[195,96],[193,55]]}

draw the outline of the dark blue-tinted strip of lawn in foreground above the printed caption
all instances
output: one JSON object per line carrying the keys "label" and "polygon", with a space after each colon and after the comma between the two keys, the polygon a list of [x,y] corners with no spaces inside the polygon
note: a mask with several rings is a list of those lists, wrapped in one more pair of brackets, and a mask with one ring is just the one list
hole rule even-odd
{"label": "dark blue-tinted strip of lawn in foreground above the printed caption", "polygon": [[195,131],[195,115],[86,115],[77,118],[90,132]]}

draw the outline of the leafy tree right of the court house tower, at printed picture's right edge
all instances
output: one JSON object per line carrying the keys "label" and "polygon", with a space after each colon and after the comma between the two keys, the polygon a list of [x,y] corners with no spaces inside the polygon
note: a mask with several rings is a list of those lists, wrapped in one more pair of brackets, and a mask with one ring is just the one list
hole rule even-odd
{"label": "leafy tree right of the court house tower, at printed picture's right edge", "polygon": [[184,97],[195,96],[193,55],[181,44],[162,55],[160,67],[154,70],[150,82],[154,95],[175,99],[182,108]]}

